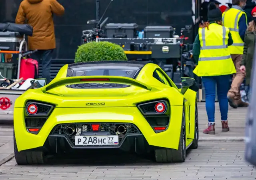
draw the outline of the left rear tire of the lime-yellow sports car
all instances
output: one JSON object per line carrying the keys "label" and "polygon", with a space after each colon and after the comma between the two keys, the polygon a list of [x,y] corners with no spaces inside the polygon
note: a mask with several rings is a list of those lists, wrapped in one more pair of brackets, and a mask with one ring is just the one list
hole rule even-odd
{"label": "left rear tire of the lime-yellow sports car", "polygon": [[15,134],[14,138],[14,157],[17,164],[44,164],[44,152],[43,151],[20,151],[18,152]]}

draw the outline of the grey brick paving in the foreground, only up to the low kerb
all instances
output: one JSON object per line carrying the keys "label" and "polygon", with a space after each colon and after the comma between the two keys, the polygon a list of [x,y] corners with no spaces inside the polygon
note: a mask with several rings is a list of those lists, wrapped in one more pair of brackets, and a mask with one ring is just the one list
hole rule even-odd
{"label": "grey brick paving in the foreground, only up to the low kerb", "polygon": [[[101,163],[94,162],[96,156]],[[200,142],[184,163],[158,164],[136,156],[104,154],[62,159],[63,164],[53,160],[53,165],[43,166],[18,166],[11,160],[0,167],[0,180],[254,180],[256,169],[243,157],[244,142]]]}

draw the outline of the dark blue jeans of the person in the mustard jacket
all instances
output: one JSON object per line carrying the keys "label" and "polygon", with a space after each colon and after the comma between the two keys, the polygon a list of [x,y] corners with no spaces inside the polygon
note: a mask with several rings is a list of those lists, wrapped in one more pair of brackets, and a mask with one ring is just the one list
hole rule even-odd
{"label": "dark blue jeans of the person in the mustard jacket", "polygon": [[39,64],[42,64],[42,78],[46,79],[46,84],[51,81],[51,60],[53,49],[50,50],[38,50],[34,54],[31,54],[31,58],[38,61]]}

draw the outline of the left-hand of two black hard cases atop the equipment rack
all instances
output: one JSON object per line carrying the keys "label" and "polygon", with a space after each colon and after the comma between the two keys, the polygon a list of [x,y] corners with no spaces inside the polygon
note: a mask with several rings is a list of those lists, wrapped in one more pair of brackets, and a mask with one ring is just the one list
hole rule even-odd
{"label": "left-hand of two black hard cases atop the equipment rack", "polygon": [[138,25],[135,23],[109,23],[106,24],[108,38],[136,38]]}

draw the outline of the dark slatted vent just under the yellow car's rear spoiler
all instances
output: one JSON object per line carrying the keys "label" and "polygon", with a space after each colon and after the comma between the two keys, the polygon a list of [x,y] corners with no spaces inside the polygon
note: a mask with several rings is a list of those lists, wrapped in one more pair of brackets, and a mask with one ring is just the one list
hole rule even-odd
{"label": "dark slatted vent just under the yellow car's rear spoiler", "polygon": [[114,84],[114,83],[84,83],[84,84],[72,84],[66,86],[68,88],[75,89],[98,89],[98,88],[127,88],[130,87],[126,84]]}

